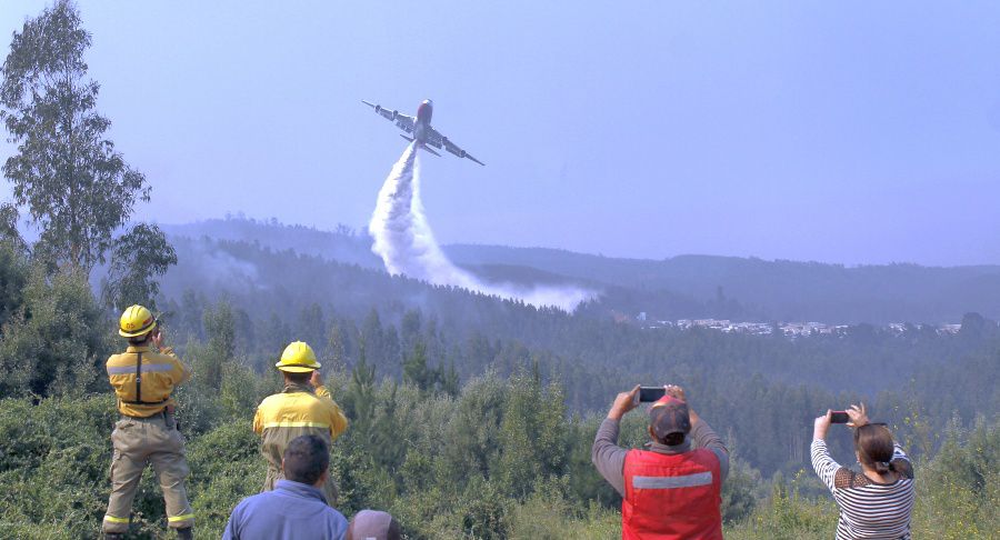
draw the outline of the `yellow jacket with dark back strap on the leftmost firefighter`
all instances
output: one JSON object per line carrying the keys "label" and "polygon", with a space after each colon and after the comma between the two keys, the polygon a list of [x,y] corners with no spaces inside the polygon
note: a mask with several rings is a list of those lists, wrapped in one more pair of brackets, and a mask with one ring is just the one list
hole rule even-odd
{"label": "yellow jacket with dark back strap on the leftmost firefighter", "polygon": [[153,352],[149,347],[129,346],[123,353],[112,354],[107,367],[118,410],[129,417],[151,417],[172,406],[173,387],[191,378],[191,371],[167,347]]}

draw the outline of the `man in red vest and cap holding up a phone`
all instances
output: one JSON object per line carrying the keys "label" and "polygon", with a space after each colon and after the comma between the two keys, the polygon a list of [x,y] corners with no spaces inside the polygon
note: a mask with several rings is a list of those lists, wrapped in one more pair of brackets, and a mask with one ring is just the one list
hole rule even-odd
{"label": "man in red vest and cap holding up a phone", "polygon": [[722,538],[722,482],[729,451],[688,407],[680,387],[649,408],[644,449],[618,446],[621,418],[639,404],[639,387],[619,393],[593,440],[591,460],[622,497],[623,539]]}

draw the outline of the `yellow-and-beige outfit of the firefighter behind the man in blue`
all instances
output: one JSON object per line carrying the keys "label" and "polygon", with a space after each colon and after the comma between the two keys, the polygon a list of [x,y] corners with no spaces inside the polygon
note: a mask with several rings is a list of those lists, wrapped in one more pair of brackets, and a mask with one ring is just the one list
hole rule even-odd
{"label": "yellow-and-beige outfit of the firefighter behind the man in blue", "polygon": [[[274,488],[274,482],[283,478],[281,459],[284,449],[296,437],[316,434],[332,444],[347,430],[347,417],[333,402],[326,387],[311,384],[288,384],[284,391],[264,398],[253,416],[253,431],[260,433],[260,451],[268,460],[268,476],[264,491]],[[327,502],[337,500],[333,476],[328,477],[324,487]]]}

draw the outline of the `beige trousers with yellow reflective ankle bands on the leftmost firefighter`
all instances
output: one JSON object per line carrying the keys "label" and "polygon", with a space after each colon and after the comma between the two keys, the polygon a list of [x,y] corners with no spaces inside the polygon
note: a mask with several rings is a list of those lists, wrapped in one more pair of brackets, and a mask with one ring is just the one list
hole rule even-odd
{"label": "beige trousers with yellow reflective ankle bands on the leftmost firefighter", "polygon": [[111,443],[114,448],[111,457],[111,498],[101,530],[128,531],[132,500],[142,471],[149,464],[160,481],[167,501],[167,524],[173,529],[194,524],[194,511],[188,503],[184,489],[184,479],[191,472],[184,458],[184,438],[177,430],[172,414],[122,417],[114,423]]}

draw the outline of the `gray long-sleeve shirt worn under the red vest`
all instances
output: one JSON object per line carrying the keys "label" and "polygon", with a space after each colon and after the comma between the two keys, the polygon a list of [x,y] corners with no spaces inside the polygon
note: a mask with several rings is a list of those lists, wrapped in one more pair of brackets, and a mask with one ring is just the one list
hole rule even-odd
{"label": "gray long-sleeve shirt worn under the red vest", "polygon": [[[593,449],[590,451],[590,460],[593,461],[598,472],[604,477],[604,480],[614,488],[616,491],[624,497],[624,457],[629,453],[628,449],[618,446],[619,421],[606,418],[598,428],[597,437],[593,439]],[[694,441],[692,448],[691,441]],[[666,454],[677,454],[691,451],[694,448],[704,448],[711,450],[719,458],[719,474],[722,477],[720,481],[724,482],[729,474],[729,450],[722,443],[722,439],[712,431],[704,420],[699,419],[691,427],[691,432],[684,439],[684,442],[676,447],[668,447],[659,442],[648,442],[646,450]]]}

